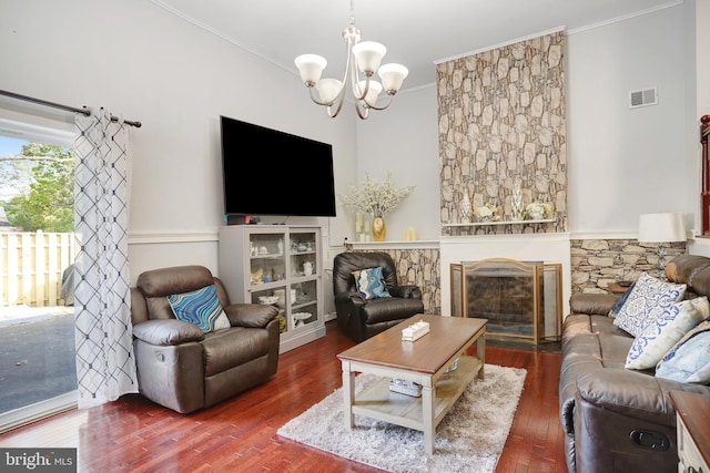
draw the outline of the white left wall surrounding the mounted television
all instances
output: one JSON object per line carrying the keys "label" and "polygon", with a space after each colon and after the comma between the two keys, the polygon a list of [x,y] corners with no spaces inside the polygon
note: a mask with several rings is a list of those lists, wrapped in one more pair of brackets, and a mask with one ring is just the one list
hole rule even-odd
{"label": "white left wall surrounding the mounted television", "polygon": [[[132,130],[133,280],[144,269],[174,264],[219,270],[220,115],[333,144],[336,189],[355,175],[354,117],[327,119],[295,68],[276,68],[141,0],[0,0],[0,12],[3,90],[104,106],[143,124]],[[244,164],[258,168],[267,158],[265,146]],[[244,179],[252,178],[260,176],[245,168]],[[265,185],[255,198],[293,196]],[[342,241],[347,226],[328,220],[288,223],[320,224]]]}

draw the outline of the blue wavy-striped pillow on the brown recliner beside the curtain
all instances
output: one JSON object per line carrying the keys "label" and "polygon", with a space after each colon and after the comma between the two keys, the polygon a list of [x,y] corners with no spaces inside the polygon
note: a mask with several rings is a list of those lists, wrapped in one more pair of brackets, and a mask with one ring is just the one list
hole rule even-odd
{"label": "blue wavy-striped pillow on the brown recliner beside the curtain", "polygon": [[170,307],[178,320],[194,323],[203,332],[230,328],[214,285],[184,294],[168,296]]}

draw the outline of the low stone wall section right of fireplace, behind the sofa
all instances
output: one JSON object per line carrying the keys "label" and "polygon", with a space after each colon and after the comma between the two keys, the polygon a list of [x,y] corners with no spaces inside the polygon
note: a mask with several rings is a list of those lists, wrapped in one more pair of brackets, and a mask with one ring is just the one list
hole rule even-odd
{"label": "low stone wall section right of fireplace, behind the sofa", "polygon": [[[572,239],[571,291],[609,292],[609,284],[635,281],[641,273],[661,278],[657,244],[636,239]],[[666,263],[686,253],[686,243],[672,243]]]}

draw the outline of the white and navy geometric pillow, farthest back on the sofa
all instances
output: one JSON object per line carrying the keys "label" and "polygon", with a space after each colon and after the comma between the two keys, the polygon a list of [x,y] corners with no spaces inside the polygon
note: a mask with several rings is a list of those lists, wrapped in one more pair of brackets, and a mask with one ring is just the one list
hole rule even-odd
{"label": "white and navy geometric pillow, farthest back on the sofa", "polygon": [[658,319],[673,302],[682,299],[686,289],[684,284],[663,282],[641,273],[613,319],[613,325],[633,337],[639,337],[648,323]]}

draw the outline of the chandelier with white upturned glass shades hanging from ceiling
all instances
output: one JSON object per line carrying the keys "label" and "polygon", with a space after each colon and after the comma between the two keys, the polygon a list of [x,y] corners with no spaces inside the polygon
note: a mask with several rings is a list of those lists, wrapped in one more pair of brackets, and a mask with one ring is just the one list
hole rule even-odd
{"label": "chandelier with white upturned glass shades hanging from ceiling", "polygon": [[[387,48],[374,41],[359,41],[359,30],[355,28],[353,3],[354,0],[351,0],[351,24],[343,30],[347,54],[343,80],[321,79],[321,74],[327,64],[327,61],[322,55],[301,54],[296,58],[295,63],[298,68],[301,80],[308,88],[311,100],[318,105],[324,105],[328,116],[332,119],[337,116],[343,107],[349,74],[357,116],[361,120],[367,120],[371,110],[385,110],[389,106],[392,99],[402,88],[402,83],[409,71],[402,64],[379,65],[382,58],[387,52]],[[382,83],[373,79],[375,71],[377,71]],[[314,89],[317,92],[317,96],[313,92]],[[379,94],[383,90],[387,95],[386,101],[378,103]]]}

